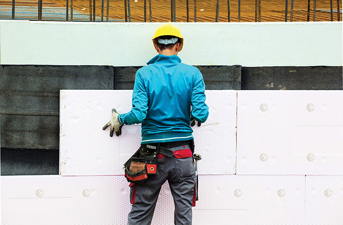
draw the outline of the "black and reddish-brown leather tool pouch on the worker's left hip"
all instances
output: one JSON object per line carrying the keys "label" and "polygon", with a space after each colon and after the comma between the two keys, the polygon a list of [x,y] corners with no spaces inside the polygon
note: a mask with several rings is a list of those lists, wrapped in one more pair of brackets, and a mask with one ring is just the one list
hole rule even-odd
{"label": "black and reddish-brown leather tool pouch on the worker's left hip", "polygon": [[148,175],[156,174],[156,157],[159,149],[159,144],[158,146],[142,145],[124,163],[125,177],[128,182],[142,184],[147,181]]}

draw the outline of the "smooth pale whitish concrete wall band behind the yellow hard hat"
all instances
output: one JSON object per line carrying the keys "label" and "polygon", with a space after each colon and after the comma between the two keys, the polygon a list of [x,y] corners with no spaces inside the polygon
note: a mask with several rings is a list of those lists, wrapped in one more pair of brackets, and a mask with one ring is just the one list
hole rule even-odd
{"label": "smooth pale whitish concrete wall band behind the yellow hard hat", "polygon": [[[1,64],[144,66],[160,25],[2,20]],[[342,66],[342,22],[176,25],[190,65]]]}

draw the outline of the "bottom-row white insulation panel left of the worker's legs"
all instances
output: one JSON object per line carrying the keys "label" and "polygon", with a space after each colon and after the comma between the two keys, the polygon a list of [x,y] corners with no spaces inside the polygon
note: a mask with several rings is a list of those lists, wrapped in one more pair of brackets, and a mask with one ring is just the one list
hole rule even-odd
{"label": "bottom-row white insulation panel left of the worker's legs", "polygon": [[130,211],[124,176],[2,176],[3,225],[122,225]]}

